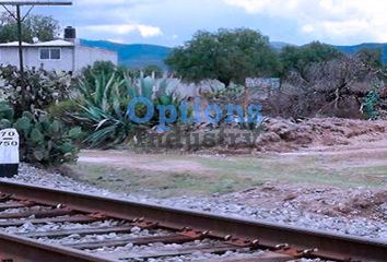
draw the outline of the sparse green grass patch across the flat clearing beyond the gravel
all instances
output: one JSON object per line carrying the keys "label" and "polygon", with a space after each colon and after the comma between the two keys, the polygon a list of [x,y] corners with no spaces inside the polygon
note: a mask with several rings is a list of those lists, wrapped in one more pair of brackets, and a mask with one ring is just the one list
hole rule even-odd
{"label": "sparse green grass patch across the flat clearing beyond the gravel", "polygon": [[[130,157],[130,155],[128,156]],[[139,157],[139,156],[136,156]],[[149,163],[181,160],[195,163],[189,171],[149,170]],[[333,187],[387,186],[387,165],[354,167],[357,159],[337,156],[233,156],[144,155],[140,166],[120,167],[106,163],[80,163],[69,166],[73,176],[114,191],[145,193],[157,198],[226,193],[268,181]],[[143,165],[143,168],[141,168]]]}

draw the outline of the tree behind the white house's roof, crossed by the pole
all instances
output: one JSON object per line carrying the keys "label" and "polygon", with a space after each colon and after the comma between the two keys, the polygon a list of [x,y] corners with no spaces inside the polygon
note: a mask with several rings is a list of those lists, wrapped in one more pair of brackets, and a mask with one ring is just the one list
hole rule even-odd
{"label": "tree behind the white house's roof, crossed by the pole", "polygon": [[[32,43],[34,37],[40,41],[52,40],[59,35],[60,26],[52,16],[30,15],[22,24],[22,39]],[[17,25],[9,13],[0,15],[0,43],[17,40]]]}

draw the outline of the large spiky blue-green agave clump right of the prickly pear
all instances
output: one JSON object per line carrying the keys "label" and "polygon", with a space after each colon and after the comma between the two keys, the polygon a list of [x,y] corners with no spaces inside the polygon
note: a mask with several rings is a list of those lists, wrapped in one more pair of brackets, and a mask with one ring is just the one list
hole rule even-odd
{"label": "large spiky blue-green agave clump right of the prickly pear", "polygon": [[[130,121],[127,116],[127,106],[132,98],[145,97],[157,105],[176,105],[179,98],[167,92],[167,81],[156,81],[153,78],[133,79],[128,75],[122,80],[115,73],[95,76],[94,85],[86,81],[80,82],[80,92],[83,104],[80,105],[82,114],[74,118],[82,121],[83,127],[89,127],[90,135],[84,140],[91,147],[112,146],[131,139],[138,131],[157,124],[156,112],[146,124]],[[145,112],[144,105],[138,105],[136,114]]]}

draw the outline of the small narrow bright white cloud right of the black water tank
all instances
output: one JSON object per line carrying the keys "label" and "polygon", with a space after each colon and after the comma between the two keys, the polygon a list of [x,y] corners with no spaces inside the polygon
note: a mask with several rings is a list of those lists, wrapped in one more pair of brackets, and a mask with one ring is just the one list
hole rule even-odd
{"label": "small narrow bright white cloud right of the black water tank", "polygon": [[163,35],[163,32],[160,27],[143,25],[143,24],[89,25],[89,26],[83,26],[82,29],[90,31],[90,32],[99,32],[99,33],[114,32],[117,35],[127,35],[130,33],[138,32],[144,38]]}

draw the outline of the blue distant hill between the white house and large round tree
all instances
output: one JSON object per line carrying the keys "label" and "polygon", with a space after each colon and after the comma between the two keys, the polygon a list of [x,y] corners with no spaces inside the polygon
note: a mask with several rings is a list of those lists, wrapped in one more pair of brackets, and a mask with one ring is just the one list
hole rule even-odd
{"label": "blue distant hill between the white house and large round tree", "polygon": [[118,62],[130,68],[143,68],[149,64],[156,64],[166,68],[164,59],[172,48],[156,45],[125,45],[105,40],[85,40],[81,44],[87,47],[98,47],[118,52]]}

